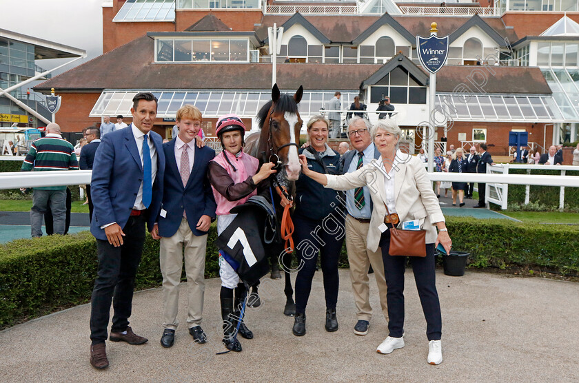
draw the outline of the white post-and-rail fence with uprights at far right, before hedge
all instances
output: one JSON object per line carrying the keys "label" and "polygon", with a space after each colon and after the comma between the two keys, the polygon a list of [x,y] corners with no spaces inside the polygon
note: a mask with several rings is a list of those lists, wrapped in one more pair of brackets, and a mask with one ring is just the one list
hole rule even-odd
{"label": "white post-and-rail fence with uprights at far right, before hedge", "polygon": [[[527,174],[509,174],[509,169],[527,169]],[[531,170],[557,170],[561,172],[560,176],[539,176],[533,174],[531,176]],[[527,183],[518,183],[518,185],[525,185],[525,205],[529,203],[530,194],[531,194],[531,185],[542,185],[542,186],[558,186],[559,189],[559,209],[565,208],[565,186],[569,185],[560,185],[558,183],[551,183],[551,184],[537,184],[535,180],[537,178],[542,177],[567,177],[567,178],[577,178],[579,181],[579,177],[577,176],[565,176],[567,170],[575,170],[579,171],[578,166],[571,166],[571,165],[531,165],[531,164],[497,164],[487,166],[487,174],[492,174],[494,177],[501,176],[511,178],[516,177],[520,178],[527,177]],[[525,178],[522,178],[525,179]],[[550,178],[549,178],[550,179]],[[531,182],[529,182],[531,181]],[[512,183],[510,183],[512,184]],[[508,196],[509,196],[509,183],[487,183],[486,185],[486,198],[487,202],[494,203],[496,205],[500,205],[500,208],[503,210],[507,209],[508,206]]]}

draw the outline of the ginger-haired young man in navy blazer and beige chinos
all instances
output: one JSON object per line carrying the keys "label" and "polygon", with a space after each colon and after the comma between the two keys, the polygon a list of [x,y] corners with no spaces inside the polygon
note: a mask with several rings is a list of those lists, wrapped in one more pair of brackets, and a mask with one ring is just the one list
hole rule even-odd
{"label": "ginger-haired young man in navy blazer and beige chinos", "polygon": [[205,249],[207,231],[215,219],[217,205],[207,178],[207,167],[215,157],[210,147],[196,147],[201,112],[192,105],[177,111],[179,134],[163,144],[165,182],[163,205],[152,236],[161,239],[159,260],[163,274],[163,335],[161,345],[173,345],[179,325],[179,284],[185,260],[187,274],[187,325],[197,343],[205,343],[201,329],[205,292]]}

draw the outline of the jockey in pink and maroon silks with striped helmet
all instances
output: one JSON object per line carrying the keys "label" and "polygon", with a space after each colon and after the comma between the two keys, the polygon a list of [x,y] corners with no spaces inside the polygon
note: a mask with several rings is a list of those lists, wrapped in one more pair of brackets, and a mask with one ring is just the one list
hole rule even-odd
{"label": "jockey in pink and maroon silks with striped helmet", "polygon": [[[226,114],[217,121],[215,133],[221,141],[223,151],[209,163],[207,172],[217,203],[217,235],[234,220],[236,214],[230,210],[245,203],[250,196],[257,194],[258,184],[274,174],[274,163],[264,163],[257,172],[257,158],[245,154],[245,125],[235,114]],[[223,318],[223,344],[227,349],[240,352],[241,344],[234,329],[241,318],[240,307],[245,300],[247,289],[239,276],[219,253],[219,275],[221,276],[221,317]],[[235,290],[235,300],[234,300]],[[243,323],[239,333],[245,339],[252,339],[253,333]]]}

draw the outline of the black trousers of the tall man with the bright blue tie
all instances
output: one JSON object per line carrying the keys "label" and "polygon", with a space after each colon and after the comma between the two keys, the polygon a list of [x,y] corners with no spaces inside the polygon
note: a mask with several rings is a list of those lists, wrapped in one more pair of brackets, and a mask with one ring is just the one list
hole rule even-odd
{"label": "black trousers of the tall man with the bright blue tie", "polygon": [[120,247],[110,245],[108,240],[96,240],[99,270],[92,290],[92,344],[104,343],[107,338],[111,300],[114,309],[111,331],[125,331],[129,325],[134,276],[145,243],[145,216],[130,216],[123,232],[125,236]]}

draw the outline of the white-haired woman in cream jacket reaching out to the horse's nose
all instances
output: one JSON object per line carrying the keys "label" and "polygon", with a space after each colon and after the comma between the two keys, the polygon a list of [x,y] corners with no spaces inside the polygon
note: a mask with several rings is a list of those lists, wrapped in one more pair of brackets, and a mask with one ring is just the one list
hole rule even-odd
{"label": "white-haired woman in cream jacket reaching out to the horse's nose", "polygon": [[[442,319],[440,302],[436,292],[434,274],[434,247],[441,243],[449,253],[451,240],[445,227],[445,218],[438,205],[436,194],[428,179],[423,163],[414,156],[398,150],[400,128],[392,120],[378,121],[372,131],[374,143],[380,152],[380,159],[365,165],[354,173],[343,176],[318,174],[310,169],[303,156],[300,158],[303,174],[325,187],[345,190],[369,186],[374,210],[370,220],[367,243],[369,249],[382,248],[386,277],[388,305],[388,337],[378,346],[378,353],[388,354],[404,347],[404,271],[407,257],[390,256],[390,230],[382,226],[387,222],[402,225],[402,222],[418,220],[426,233],[426,256],[412,257],[414,280],[420,296],[420,303],[427,322],[429,352],[427,362],[440,364],[443,361],[440,337]],[[380,227],[384,229],[380,234]],[[392,223],[386,227],[391,228]],[[438,234],[436,234],[438,227]]]}

